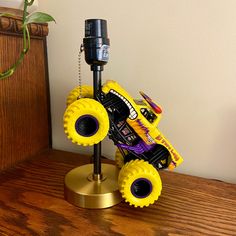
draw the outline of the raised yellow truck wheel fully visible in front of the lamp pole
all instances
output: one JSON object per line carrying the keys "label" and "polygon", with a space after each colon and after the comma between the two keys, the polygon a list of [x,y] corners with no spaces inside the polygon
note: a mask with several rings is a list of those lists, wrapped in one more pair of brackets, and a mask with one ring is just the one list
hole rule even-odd
{"label": "raised yellow truck wheel fully visible in front of the lamp pole", "polygon": [[64,130],[73,143],[83,146],[97,144],[109,130],[107,111],[98,101],[81,98],[66,109]]}

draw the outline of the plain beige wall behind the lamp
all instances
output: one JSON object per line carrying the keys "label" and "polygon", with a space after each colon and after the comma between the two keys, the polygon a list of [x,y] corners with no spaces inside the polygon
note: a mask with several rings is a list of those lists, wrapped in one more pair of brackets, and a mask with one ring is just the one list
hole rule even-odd
{"label": "plain beige wall behind the lamp", "polygon": [[[57,20],[48,37],[54,148],[91,152],[66,139],[62,116],[78,84],[84,20],[104,18],[111,51],[103,78],[162,105],[160,130],[185,159],[176,171],[236,183],[235,0],[50,0],[40,10]],[[82,76],[91,84],[84,62]],[[114,150],[105,140],[104,154]]]}

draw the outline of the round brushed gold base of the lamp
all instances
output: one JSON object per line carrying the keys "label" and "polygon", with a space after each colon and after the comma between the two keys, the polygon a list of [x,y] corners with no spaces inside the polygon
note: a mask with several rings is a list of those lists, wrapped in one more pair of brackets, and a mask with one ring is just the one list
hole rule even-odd
{"label": "round brushed gold base of the lamp", "polygon": [[84,208],[107,208],[122,201],[118,190],[119,169],[102,164],[102,175],[93,176],[93,165],[79,166],[65,177],[65,199]]}

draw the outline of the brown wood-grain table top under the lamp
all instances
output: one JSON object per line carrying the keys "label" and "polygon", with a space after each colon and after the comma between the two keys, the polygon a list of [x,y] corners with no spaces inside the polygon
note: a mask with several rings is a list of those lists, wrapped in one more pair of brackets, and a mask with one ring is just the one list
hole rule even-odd
{"label": "brown wood-grain table top under the lamp", "polygon": [[0,175],[0,235],[236,235],[236,185],[162,171],[148,208],[91,210],[64,200],[65,174],[88,163],[50,150]]}

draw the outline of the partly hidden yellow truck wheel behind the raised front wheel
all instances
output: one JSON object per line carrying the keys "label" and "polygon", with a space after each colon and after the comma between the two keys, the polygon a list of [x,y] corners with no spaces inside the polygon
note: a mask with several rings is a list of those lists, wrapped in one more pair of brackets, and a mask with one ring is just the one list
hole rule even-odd
{"label": "partly hidden yellow truck wheel behind the raised front wheel", "polygon": [[[70,91],[67,96],[66,105],[69,106],[74,101],[78,100],[80,95],[80,87],[76,87]],[[93,87],[89,85],[81,86],[81,98],[93,98]]]}

